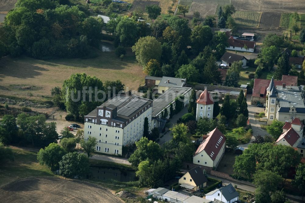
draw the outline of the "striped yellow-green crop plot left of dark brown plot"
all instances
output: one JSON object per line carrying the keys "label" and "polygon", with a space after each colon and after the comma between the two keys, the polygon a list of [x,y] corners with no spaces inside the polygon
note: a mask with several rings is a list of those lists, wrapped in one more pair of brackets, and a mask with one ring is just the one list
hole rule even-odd
{"label": "striped yellow-green crop plot left of dark brown plot", "polygon": [[258,27],[262,12],[255,11],[236,11],[233,18],[238,27]]}

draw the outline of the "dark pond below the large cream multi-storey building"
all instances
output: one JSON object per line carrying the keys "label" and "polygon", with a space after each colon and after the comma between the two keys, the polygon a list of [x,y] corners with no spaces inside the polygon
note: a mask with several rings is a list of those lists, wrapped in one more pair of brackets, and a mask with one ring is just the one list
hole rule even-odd
{"label": "dark pond below the large cream multi-storey building", "polygon": [[135,181],[135,171],[125,169],[115,169],[101,166],[90,167],[93,179],[97,180],[117,180],[120,182]]}

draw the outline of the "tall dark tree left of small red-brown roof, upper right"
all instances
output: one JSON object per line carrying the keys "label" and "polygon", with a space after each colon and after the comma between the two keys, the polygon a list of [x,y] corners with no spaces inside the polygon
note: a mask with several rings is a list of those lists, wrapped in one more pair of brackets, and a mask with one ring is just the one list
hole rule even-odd
{"label": "tall dark tree left of small red-brown roof, upper right", "polygon": [[218,83],[220,81],[220,72],[216,64],[216,59],[213,55],[207,59],[203,70],[204,80],[206,84]]}

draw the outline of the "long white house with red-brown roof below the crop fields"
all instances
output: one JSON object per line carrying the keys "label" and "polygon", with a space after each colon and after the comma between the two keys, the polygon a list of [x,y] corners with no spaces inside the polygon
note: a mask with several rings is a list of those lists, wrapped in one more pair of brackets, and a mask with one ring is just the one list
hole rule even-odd
{"label": "long white house with red-brown roof below the crop fields", "polygon": [[233,36],[228,39],[228,43],[229,46],[226,49],[233,51],[254,52],[256,46],[254,41],[235,39]]}

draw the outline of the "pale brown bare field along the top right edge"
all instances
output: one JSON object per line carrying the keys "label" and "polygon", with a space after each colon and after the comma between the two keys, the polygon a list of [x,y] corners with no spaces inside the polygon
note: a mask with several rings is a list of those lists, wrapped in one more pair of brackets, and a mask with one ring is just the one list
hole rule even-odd
{"label": "pale brown bare field along the top right edge", "polygon": [[231,0],[236,10],[305,13],[304,0]]}

